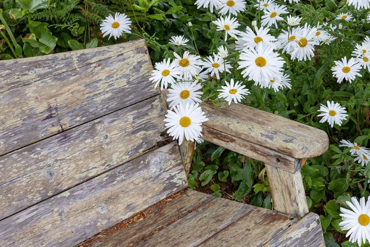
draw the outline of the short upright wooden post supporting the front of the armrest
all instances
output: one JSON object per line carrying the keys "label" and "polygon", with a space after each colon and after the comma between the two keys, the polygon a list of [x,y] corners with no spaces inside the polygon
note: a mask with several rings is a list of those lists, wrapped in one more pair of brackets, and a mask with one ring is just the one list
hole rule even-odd
{"label": "short upright wooden post supporting the front of the armrest", "polygon": [[308,211],[302,175],[265,164],[274,209],[303,217]]}

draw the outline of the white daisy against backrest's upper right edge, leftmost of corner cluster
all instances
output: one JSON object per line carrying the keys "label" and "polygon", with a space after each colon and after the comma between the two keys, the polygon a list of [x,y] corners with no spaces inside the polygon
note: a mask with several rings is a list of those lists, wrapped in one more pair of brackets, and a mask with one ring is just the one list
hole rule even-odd
{"label": "white daisy against backrest's upper right edge, leftmost of corner cluster", "polygon": [[150,81],[155,82],[154,87],[161,83],[160,88],[167,88],[168,83],[175,83],[175,78],[180,78],[180,70],[176,64],[171,63],[171,60],[164,59],[160,63],[155,63],[154,69],[151,73]]}

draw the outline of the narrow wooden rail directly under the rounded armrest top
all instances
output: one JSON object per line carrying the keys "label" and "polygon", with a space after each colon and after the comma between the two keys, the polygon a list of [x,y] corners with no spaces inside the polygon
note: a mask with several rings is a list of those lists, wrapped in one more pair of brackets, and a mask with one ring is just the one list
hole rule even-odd
{"label": "narrow wooden rail directly under the rounded armrest top", "polygon": [[207,126],[202,126],[202,128],[202,138],[206,141],[289,172],[296,172],[301,168],[300,159],[292,158]]}

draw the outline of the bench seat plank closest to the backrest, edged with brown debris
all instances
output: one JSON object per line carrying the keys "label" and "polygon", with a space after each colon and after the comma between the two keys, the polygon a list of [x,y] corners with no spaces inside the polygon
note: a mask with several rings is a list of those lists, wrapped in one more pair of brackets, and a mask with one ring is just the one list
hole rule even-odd
{"label": "bench seat plank closest to the backrest, edged with brown debris", "polygon": [[122,229],[119,233],[101,239],[102,242],[94,242],[93,247],[126,247],[135,246],[144,239],[159,232],[173,223],[174,221],[184,217],[186,214],[199,206],[204,206],[213,200],[215,197],[200,193],[194,190],[187,189],[185,197],[173,201],[171,204],[165,204],[161,207],[153,209],[154,211],[148,214],[143,221],[128,225],[127,229]]}

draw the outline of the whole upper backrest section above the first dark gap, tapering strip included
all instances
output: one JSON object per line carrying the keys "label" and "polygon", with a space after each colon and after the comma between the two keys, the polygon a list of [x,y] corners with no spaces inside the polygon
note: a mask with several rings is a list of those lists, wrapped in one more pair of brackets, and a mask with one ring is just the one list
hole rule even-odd
{"label": "whole upper backrest section above the first dark gap, tapering strip included", "polygon": [[15,60],[0,61],[0,155],[158,93],[144,41]]}

